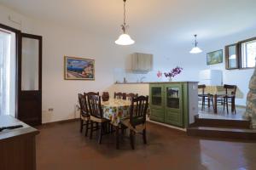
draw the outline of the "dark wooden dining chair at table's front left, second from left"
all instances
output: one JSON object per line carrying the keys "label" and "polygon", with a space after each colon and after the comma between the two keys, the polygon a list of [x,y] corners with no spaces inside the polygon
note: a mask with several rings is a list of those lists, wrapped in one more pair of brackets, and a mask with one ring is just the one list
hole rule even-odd
{"label": "dark wooden dining chair at table's front left, second from left", "polygon": [[[90,108],[90,121],[91,122],[96,122],[96,130],[100,130],[99,138],[98,138],[98,143],[102,144],[102,135],[107,133],[107,126],[108,126],[108,119],[103,118],[103,111],[102,111],[102,99],[101,96],[99,95],[87,95],[88,97],[88,103],[89,103],[89,108]],[[98,124],[101,126],[98,127]],[[92,133],[95,131],[92,123],[91,125],[91,130],[90,130],[90,139],[92,138]]]}

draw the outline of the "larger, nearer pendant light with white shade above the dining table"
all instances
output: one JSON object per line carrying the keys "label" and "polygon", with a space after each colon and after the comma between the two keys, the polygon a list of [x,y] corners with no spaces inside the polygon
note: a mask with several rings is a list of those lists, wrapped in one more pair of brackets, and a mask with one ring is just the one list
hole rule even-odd
{"label": "larger, nearer pendant light with white shade above the dining table", "polygon": [[125,3],[126,0],[124,0],[124,24],[121,25],[123,34],[119,36],[119,39],[115,41],[118,45],[131,45],[134,43],[134,40],[131,39],[131,37],[126,33],[126,30],[129,26],[126,25],[126,11],[125,11]]}

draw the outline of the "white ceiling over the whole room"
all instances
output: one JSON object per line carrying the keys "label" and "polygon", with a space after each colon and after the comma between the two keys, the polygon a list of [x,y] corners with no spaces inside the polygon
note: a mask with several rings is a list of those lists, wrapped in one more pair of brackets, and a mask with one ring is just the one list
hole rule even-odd
{"label": "white ceiling over the whole room", "polygon": [[[74,26],[117,38],[123,20],[122,0],[0,0],[4,6],[37,20]],[[256,28],[255,0],[127,0],[131,37],[181,43],[224,37]],[[147,38],[145,38],[147,37]]]}

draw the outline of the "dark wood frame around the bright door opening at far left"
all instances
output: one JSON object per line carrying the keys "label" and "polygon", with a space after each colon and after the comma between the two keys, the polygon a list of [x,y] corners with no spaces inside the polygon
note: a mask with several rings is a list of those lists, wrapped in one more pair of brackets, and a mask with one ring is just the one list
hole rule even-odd
{"label": "dark wood frame around the bright door opening at far left", "polygon": [[18,99],[19,99],[19,93],[18,93],[18,87],[19,87],[19,71],[18,71],[18,63],[20,62],[20,56],[21,56],[21,48],[20,48],[20,43],[21,43],[21,38],[20,38],[20,34],[21,31],[17,30],[15,28],[12,28],[10,26],[5,26],[3,24],[0,23],[0,28],[2,28],[3,30],[7,30],[7,31],[11,31],[15,33],[15,46],[16,46],[16,51],[15,51],[15,58],[16,58],[16,71],[15,71],[15,117],[18,117]]}

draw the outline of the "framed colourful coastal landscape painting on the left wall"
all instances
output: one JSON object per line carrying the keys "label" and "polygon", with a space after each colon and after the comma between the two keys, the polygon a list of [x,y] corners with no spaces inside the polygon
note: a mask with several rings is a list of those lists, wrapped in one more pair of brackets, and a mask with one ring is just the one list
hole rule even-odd
{"label": "framed colourful coastal landscape painting on the left wall", "polygon": [[64,57],[65,80],[95,80],[95,60]]}

